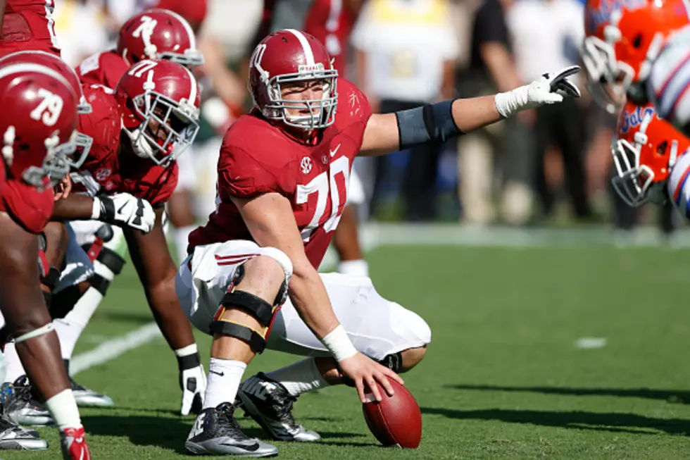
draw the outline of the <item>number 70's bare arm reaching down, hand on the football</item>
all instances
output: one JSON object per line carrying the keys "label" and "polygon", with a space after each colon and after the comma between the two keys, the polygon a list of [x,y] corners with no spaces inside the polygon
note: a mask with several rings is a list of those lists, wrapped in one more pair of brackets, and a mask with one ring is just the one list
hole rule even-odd
{"label": "number 70's bare arm reaching down, hand on the football", "polygon": [[251,199],[233,198],[254,241],[262,247],[275,247],[292,262],[289,295],[297,313],[314,335],[330,350],[341,369],[355,381],[364,402],[364,385],[381,399],[375,382],[388,394],[393,389],[387,376],[402,383],[396,373],[360,354],[341,327],[331,306],[321,277],[304,251],[290,201],[278,193],[266,193]]}

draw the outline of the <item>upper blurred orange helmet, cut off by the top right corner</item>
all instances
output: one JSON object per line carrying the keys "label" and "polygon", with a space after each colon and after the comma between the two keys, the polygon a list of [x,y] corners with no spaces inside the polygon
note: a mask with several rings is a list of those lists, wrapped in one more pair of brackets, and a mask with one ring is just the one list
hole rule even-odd
{"label": "upper blurred orange helmet, cut off by the top right corner", "polygon": [[609,113],[646,78],[665,37],[690,23],[683,0],[587,0],[582,61],[592,97]]}

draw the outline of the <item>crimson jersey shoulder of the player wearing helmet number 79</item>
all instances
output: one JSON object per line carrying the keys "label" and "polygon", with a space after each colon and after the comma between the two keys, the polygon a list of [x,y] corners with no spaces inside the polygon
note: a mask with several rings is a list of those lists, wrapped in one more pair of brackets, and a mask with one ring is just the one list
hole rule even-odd
{"label": "crimson jersey shoulder of the player wearing helmet number 79", "polygon": [[55,195],[47,178],[45,185],[39,192],[22,180],[7,179],[2,189],[0,211],[8,213],[27,232],[38,235],[53,213]]}

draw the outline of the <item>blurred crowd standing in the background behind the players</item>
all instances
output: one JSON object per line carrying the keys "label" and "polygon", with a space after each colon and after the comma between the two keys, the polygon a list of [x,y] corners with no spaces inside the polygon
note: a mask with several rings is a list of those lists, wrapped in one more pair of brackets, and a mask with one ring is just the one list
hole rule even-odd
{"label": "blurred crowd standing in the background behind the players", "polygon": [[[76,66],[113,42],[137,11],[165,0],[56,0],[63,58]],[[175,8],[206,58],[203,128],[180,158],[196,218],[215,207],[215,162],[234,118],[251,108],[249,54],[266,32],[325,23],[325,45],[377,112],[507,91],[579,63],[581,0],[189,0]],[[180,6],[182,5],[182,6]],[[84,37],[88,37],[84,39]],[[580,82],[584,88],[584,82]],[[467,225],[654,223],[670,209],[630,209],[610,187],[616,120],[584,92],[443,145],[358,158],[363,220]]]}

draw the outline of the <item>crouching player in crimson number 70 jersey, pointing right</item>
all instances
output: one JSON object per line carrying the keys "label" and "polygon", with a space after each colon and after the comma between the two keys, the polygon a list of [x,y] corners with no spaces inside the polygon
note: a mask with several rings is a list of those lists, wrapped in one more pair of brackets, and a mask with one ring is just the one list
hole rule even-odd
{"label": "crouching player in crimson number 70 jersey, pointing right", "polygon": [[[369,278],[316,271],[356,155],[441,142],[579,97],[567,80],[573,67],[495,96],[372,115],[324,46],[298,30],[263,39],[249,66],[255,107],[225,135],[217,209],[190,235],[175,283],[192,323],[213,335],[203,411],[185,444],[195,454],[277,454],[240,430],[236,396],[273,437],[318,440],[291,416],[299,394],[350,380],[362,401],[365,387],[380,400],[375,383],[392,394],[388,378],[402,383],[397,373],[424,356],[431,332],[422,318],[377,294]],[[240,389],[247,363],[265,347],[318,357],[254,375]]]}

